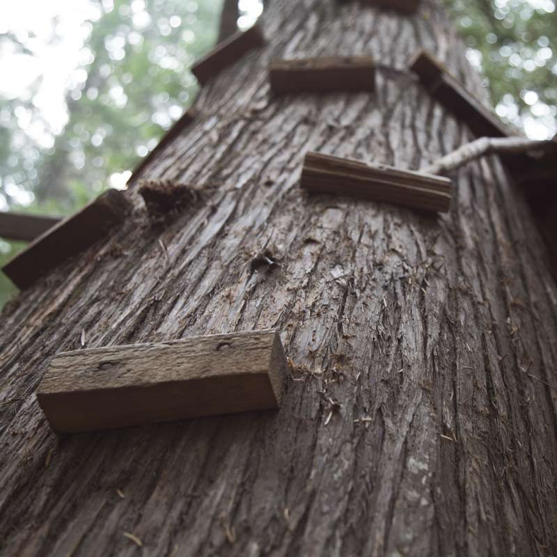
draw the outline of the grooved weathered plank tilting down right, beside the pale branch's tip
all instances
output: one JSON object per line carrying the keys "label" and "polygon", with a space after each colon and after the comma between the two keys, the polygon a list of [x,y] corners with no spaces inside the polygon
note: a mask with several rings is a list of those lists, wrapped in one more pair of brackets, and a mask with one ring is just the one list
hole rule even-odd
{"label": "grooved weathered plank tilting down right, beside the pale branch's tip", "polygon": [[400,170],[308,152],[301,172],[301,187],[312,192],[386,201],[427,211],[450,208],[452,185],[448,178]]}

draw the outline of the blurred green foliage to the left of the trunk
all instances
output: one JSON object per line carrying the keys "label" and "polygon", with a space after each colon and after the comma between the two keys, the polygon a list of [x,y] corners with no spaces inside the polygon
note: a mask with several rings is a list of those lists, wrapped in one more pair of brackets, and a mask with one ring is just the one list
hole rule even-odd
{"label": "blurred green foliage to the left of the trunk", "polygon": [[[67,212],[108,187],[111,175],[133,168],[195,95],[188,68],[213,44],[220,4],[95,2],[97,17],[83,22],[88,39],[70,76],[68,122],[52,146],[40,148],[20,126],[40,124],[38,83],[24,97],[1,100],[0,193],[8,204],[17,205],[24,185],[41,207],[54,199]],[[17,45],[13,36],[0,40]]]}

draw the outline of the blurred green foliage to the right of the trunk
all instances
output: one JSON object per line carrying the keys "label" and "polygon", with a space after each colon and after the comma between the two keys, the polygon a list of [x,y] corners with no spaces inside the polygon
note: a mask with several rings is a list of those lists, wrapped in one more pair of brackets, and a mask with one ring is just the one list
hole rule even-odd
{"label": "blurred green foliage to the right of the trunk", "polygon": [[555,134],[556,0],[446,0],[499,116],[535,139]]}

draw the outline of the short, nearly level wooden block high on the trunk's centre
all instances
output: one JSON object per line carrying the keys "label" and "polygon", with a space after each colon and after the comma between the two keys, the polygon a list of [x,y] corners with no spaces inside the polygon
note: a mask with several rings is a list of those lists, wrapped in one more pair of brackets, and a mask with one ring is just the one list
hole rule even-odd
{"label": "short, nearly level wooden block high on the trunk's centre", "polygon": [[375,91],[371,56],[322,56],[274,61],[269,66],[273,93]]}

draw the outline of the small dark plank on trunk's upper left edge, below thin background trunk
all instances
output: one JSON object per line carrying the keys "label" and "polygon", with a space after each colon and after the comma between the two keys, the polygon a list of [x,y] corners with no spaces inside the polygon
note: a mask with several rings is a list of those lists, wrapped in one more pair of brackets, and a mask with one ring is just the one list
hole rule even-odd
{"label": "small dark plank on trunk's upper left edge, below thin background trunk", "polygon": [[251,49],[265,45],[265,36],[258,24],[243,33],[235,33],[230,38],[219,42],[211,52],[200,58],[191,67],[201,85],[219,74],[227,66],[240,60]]}

